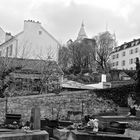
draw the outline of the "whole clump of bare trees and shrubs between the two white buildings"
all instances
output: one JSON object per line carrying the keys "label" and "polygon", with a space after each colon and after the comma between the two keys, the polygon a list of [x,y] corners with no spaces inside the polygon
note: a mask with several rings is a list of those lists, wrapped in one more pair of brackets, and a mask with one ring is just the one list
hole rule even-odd
{"label": "whole clump of bare trees and shrubs between the two white buildings", "polygon": [[93,39],[76,40],[60,48],[59,65],[69,80],[99,82],[100,78],[93,76],[93,72],[109,72],[109,57],[115,45],[116,40],[109,32],[100,33]]}

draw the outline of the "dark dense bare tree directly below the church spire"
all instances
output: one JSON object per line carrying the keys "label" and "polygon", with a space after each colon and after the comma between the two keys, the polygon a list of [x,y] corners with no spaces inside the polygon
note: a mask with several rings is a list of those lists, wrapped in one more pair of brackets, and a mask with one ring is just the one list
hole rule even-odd
{"label": "dark dense bare tree directly below the church spire", "polygon": [[72,67],[78,73],[86,70],[90,71],[93,67],[93,56],[95,53],[96,42],[94,39],[83,39],[80,42],[75,41],[69,46]]}

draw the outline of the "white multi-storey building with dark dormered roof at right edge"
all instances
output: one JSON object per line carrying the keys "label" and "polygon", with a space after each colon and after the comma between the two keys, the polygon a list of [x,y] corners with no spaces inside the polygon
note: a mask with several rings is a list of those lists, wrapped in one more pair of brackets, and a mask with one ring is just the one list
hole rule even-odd
{"label": "white multi-storey building with dark dormered roof at right edge", "polygon": [[140,59],[140,39],[134,39],[114,49],[111,53],[112,68],[135,70],[137,57]]}

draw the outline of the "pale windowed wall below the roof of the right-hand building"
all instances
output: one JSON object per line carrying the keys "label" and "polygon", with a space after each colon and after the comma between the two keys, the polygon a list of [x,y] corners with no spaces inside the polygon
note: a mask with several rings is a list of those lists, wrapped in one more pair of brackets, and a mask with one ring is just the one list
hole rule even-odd
{"label": "pale windowed wall below the roof of the right-hand building", "polygon": [[112,68],[134,70],[136,57],[140,58],[140,44],[114,52],[111,54]]}

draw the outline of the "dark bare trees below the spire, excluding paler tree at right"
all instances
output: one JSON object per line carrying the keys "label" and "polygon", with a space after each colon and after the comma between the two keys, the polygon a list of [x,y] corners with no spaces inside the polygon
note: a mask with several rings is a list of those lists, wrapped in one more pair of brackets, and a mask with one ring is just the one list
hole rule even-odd
{"label": "dark bare trees below the spire, excluding paler tree at right", "polygon": [[80,42],[74,41],[67,47],[59,50],[59,65],[63,71],[70,74],[79,74],[83,71],[90,71],[94,65],[93,54],[95,53],[96,42],[94,39],[83,39]]}

